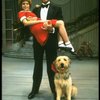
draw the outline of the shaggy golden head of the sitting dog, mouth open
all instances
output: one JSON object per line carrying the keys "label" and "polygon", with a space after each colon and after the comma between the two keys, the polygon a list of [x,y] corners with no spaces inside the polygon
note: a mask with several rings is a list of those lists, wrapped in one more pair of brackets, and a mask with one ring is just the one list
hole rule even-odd
{"label": "shaggy golden head of the sitting dog, mouth open", "polygon": [[69,69],[70,63],[71,60],[68,56],[58,56],[53,62],[58,73],[65,73]]}

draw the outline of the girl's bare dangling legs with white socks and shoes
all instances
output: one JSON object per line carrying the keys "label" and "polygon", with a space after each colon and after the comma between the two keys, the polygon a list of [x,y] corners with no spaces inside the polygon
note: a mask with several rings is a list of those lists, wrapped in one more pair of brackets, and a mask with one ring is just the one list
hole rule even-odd
{"label": "girl's bare dangling legs with white socks and shoes", "polygon": [[71,48],[71,51],[74,52],[74,48],[71,44],[71,42],[69,41],[69,37],[68,37],[68,34],[67,34],[67,31],[65,29],[65,26],[64,26],[64,22],[62,20],[58,20],[56,22],[56,27],[59,28],[59,47],[67,47],[67,48]]}

